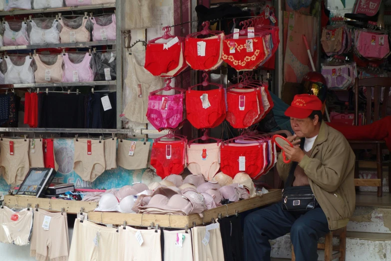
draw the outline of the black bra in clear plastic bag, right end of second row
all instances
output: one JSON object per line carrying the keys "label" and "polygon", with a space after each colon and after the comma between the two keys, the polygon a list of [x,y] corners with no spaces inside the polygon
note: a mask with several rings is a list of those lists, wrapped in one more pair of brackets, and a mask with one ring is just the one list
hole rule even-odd
{"label": "black bra in clear plastic bag, right end of second row", "polygon": [[96,52],[93,57],[95,61],[95,80],[115,80],[117,78],[115,51]]}

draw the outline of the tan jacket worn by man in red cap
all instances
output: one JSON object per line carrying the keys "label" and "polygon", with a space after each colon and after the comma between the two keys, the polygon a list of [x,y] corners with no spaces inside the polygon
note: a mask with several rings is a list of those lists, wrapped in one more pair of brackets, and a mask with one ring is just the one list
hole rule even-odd
{"label": "tan jacket worn by man in red cap", "polygon": [[[326,214],[329,229],[348,224],[356,205],[354,171],[356,156],[348,140],[338,130],[322,121],[310,156],[299,163],[309,177],[310,186]],[[286,181],[291,163],[284,163],[282,154],[277,170]]]}

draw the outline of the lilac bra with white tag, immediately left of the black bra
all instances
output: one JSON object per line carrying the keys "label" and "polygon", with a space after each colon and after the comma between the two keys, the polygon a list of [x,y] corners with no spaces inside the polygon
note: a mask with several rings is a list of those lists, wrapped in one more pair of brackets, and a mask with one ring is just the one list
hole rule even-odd
{"label": "lilac bra with white tag, immediately left of the black bra", "polygon": [[65,65],[62,73],[62,81],[93,81],[94,74],[89,66],[91,57],[92,56],[86,52],[80,63],[73,63],[69,60],[68,53],[62,54]]}

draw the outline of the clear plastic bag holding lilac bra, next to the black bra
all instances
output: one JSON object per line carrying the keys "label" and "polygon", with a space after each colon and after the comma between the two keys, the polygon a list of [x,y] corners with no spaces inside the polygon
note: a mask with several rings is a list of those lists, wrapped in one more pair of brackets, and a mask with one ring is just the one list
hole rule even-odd
{"label": "clear plastic bag holding lilac bra, next to the black bra", "polygon": [[70,52],[61,55],[64,60],[62,81],[83,82],[94,80],[94,71],[96,69],[92,56],[95,54],[91,53],[90,55],[88,52]]}

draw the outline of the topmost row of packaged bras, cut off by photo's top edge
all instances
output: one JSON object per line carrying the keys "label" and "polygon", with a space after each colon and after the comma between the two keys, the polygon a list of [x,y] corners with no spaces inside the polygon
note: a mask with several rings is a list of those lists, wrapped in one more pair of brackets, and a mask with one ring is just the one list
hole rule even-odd
{"label": "topmost row of packaged bras, cut off by photo's top edge", "polygon": [[[32,3],[32,4],[31,4]],[[65,6],[115,3],[115,0],[65,0]],[[63,0],[4,0],[4,11],[63,7]]]}

